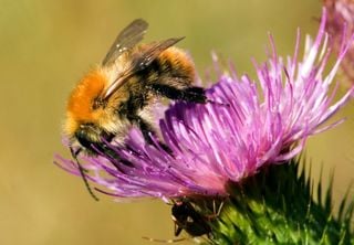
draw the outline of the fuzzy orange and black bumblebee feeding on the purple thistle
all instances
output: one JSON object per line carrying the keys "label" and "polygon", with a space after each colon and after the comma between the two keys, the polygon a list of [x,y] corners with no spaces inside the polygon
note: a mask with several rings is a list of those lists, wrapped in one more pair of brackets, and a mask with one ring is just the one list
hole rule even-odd
{"label": "fuzzy orange and black bumblebee feeding on the purple thistle", "polygon": [[[139,128],[145,141],[153,145],[152,136],[156,132],[150,110],[158,97],[208,102],[205,89],[194,86],[192,61],[185,51],[174,46],[184,38],[139,44],[147,28],[146,21],[137,19],[123,29],[102,63],[72,90],[64,135],[70,139],[77,164],[80,152],[119,158],[107,142],[124,142],[132,126]],[[79,169],[85,180],[84,169],[81,166]],[[88,187],[86,180],[85,183]]]}

